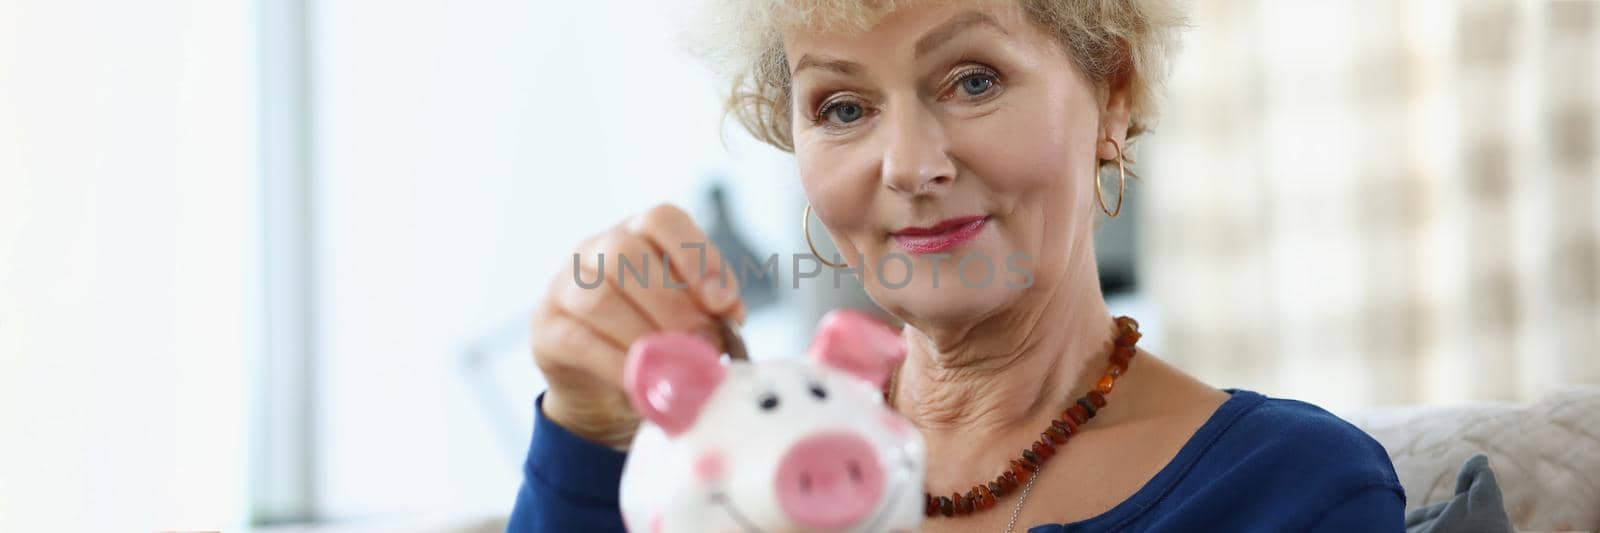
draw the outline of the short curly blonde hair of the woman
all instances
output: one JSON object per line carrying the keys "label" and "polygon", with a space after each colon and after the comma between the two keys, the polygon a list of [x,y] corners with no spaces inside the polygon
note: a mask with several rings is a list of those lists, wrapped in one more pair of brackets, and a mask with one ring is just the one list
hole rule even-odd
{"label": "short curly blonde hair of the woman", "polygon": [[[757,139],[794,152],[790,78],[782,32],[861,32],[912,3],[934,0],[712,0],[691,48],[733,83],[725,110]],[[966,0],[1018,2],[1072,56],[1096,86],[1125,83],[1128,139],[1155,118],[1157,96],[1176,53],[1184,14],[1176,0]]]}

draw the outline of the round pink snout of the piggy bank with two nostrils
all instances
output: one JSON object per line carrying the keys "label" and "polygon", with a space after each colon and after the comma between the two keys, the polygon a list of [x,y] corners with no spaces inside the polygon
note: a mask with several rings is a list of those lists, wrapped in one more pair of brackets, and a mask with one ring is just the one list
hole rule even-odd
{"label": "round pink snout of the piggy bank with two nostrils", "polygon": [[778,504],[811,528],[854,525],[877,507],[883,485],[872,443],[846,432],[806,437],[778,464]]}

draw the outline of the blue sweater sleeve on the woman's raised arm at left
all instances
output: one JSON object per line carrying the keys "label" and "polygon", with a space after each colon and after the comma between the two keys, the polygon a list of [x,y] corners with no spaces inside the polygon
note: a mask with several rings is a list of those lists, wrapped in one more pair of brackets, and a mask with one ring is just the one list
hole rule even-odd
{"label": "blue sweater sleeve on the woman's raised arm at left", "polygon": [[618,487],[627,455],[544,418],[544,394],[533,411],[533,442],[506,531],[624,531]]}

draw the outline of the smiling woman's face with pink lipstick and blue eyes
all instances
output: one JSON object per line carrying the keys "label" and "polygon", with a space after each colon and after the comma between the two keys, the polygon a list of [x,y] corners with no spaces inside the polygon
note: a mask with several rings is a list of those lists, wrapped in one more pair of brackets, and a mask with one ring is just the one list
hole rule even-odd
{"label": "smiling woman's face with pink lipstick and blue eyes", "polygon": [[1098,98],[1019,6],[910,6],[784,48],[806,197],[886,311],[966,323],[1094,274],[1094,168],[1125,98]]}

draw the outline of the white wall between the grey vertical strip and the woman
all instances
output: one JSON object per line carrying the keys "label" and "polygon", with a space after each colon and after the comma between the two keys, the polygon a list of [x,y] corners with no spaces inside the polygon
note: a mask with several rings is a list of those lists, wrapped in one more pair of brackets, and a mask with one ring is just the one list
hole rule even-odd
{"label": "white wall between the grey vertical strip and the woman", "polygon": [[[504,423],[528,424],[538,391],[525,319],[568,250],[658,202],[696,208],[720,170],[744,205],[798,197],[771,150],[725,155],[677,5],[315,5],[322,512],[507,512],[526,427]],[[798,238],[798,205],[742,214]],[[509,418],[461,367],[493,331]]]}

